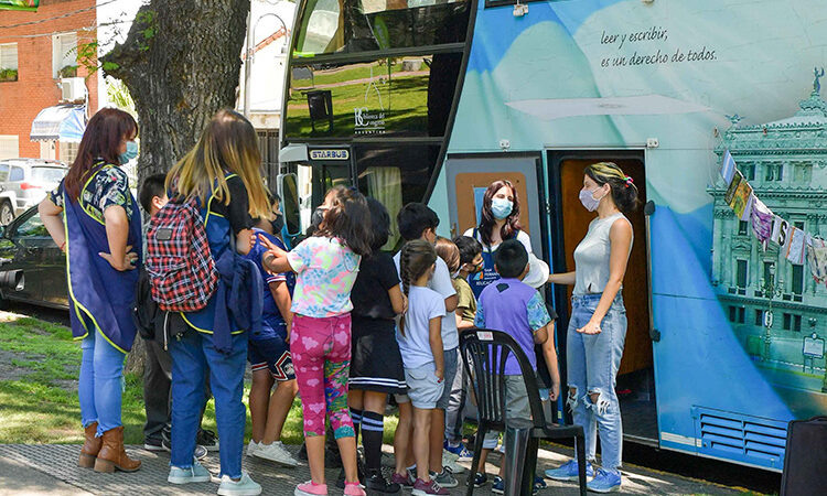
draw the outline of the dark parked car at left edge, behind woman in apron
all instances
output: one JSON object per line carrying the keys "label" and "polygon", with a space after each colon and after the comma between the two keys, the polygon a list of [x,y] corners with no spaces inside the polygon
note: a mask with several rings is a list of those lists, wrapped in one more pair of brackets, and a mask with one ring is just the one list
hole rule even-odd
{"label": "dark parked car at left edge, behind woman in apron", "polygon": [[33,206],[0,226],[0,303],[68,309],[66,258]]}

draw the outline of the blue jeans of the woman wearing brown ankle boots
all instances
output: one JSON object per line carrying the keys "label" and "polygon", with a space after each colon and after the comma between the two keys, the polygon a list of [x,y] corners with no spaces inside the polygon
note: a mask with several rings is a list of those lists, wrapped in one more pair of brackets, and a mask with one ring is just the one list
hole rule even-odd
{"label": "blue jeans of the woman wearing brown ankle boots", "polygon": [[77,398],[84,428],[98,423],[97,436],[119,428],[120,402],[123,392],[123,359],[126,355],[100,334],[90,331],[80,342],[80,377]]}

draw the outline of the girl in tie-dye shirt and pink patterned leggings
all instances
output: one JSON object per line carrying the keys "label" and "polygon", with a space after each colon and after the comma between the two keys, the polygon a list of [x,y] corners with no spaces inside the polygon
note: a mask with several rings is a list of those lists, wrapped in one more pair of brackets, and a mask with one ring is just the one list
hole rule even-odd
{"label": "girl in tie-dye shirt and pink patterned leggings", "polygon": [[270,250],[262,262],[271,272],[298,273],[293,293],[290,351],[296,364],[311,481],[299,484],[299,496],[326,495],[324,481],[325,405],[342,454],[347,496],[364,496],[356,470],[356,440],[347,410],[351,368],[351,289],[362,256],[370,254],[370,213],[354,188],[327,192],[324,217],[313,236],[286,252]]}

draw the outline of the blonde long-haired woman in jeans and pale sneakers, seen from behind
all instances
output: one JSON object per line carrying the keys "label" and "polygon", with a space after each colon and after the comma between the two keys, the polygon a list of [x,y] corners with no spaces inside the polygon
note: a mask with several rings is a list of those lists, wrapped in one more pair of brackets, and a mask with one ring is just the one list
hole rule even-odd
{"label": "blonde long-haired woman in jeans and pale sneakers, seen from behind", "polygon": [[[167,176],[171,202],[195,198],[201,205],[210,251],[221,278],[206,308],[182,313],[189,328],[170,341],[172,356],[172,484],[207,482],[210,472],[193,459],[204,377],[215,397],[215,420],[221,438],[221,495],[255,495],[261,486],[241,471],[246,409],[241,402],[247,366],[250,319],[261,317],[261,285],[235,294],[230,279],[244,261],[236,254],[250,250],[254,218],[270,219],[270,204],[261,181],[261,155],[253,125],[233,110],[219,110],[207,123],[195,147]],[[247,261],[253,265],[251,262]],[[227,270],[229,267],[229,278]],[[258,271],[253,265],[256,276]],[[258,299],[244,311],[232,302]],[[247,321],[247,323],[243,322]],[[260,323],[259,323],[260,325]]]}

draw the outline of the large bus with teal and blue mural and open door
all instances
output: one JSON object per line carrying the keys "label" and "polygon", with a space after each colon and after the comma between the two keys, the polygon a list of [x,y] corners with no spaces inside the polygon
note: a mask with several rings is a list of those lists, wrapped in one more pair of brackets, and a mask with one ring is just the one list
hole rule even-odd
{"label": "large bus with teal and blue mural and open door", "polygon": [[[619,163],[649,202],[624,281],[627,439],[781,470],[786,422],[827,413],[827,288],[758,242],[719,169],[730,150],[769,208],[827,236],[821,3],[301,1],[281,127],[296,215],[348,184],[460,235],[507,176],[560,272],[584,231],[578,171]],[[565,371],[569,296],[546,296]]]}

